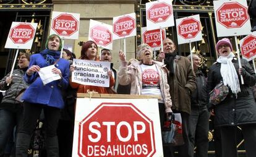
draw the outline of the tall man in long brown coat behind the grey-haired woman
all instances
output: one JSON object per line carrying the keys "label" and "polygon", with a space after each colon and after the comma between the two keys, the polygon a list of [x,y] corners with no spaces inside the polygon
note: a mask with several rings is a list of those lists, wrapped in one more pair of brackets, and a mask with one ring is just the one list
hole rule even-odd
{"label": "tall man in long brown coat behind the grey-haired woman", "polygon": [[[181,113],[182,135],[184,145],[177,146],[179,156],[190,157],[189,146],[189,114],[190,114],[190,95],[195,90],[195,73],[191,62],[184,56],[177,55],[174,50],[176,46],[169,38],[163,40],[163,52],[159,54],[158,61],[163,61],[169,70],[168,84],[174,113]],[[174,156],[174,150],[164,150],[164,157]]]}

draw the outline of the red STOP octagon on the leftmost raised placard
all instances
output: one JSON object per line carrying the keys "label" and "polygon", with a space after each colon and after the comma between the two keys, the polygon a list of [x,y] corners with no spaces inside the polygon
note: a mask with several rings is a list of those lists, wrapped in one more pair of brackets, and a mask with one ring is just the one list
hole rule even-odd
{"label": "red STOP octagon on the leftmost raised placard", "polygon": [[29,23],[20,23],[11,29],[9,38],[11,38],[15,44],[25,44],[28,41],[33,40],[35,31],[35,28]]}

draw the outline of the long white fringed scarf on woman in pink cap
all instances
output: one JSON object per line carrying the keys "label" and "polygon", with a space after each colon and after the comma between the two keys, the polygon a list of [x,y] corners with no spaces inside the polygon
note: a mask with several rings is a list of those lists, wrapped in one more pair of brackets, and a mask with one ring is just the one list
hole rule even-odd
{"label": "long white fringed scarf on woman in pink cap", "polygon": [[233,53],[230,53],[226,57],[220,56],[217,59],[217,62],[221,63],[221,76],[223,78],[224,85],[228,85],[228,87],[231,88],[232,93],[237,96],[237,93],[241,90],[236,69],[232,62],[233,57]]}

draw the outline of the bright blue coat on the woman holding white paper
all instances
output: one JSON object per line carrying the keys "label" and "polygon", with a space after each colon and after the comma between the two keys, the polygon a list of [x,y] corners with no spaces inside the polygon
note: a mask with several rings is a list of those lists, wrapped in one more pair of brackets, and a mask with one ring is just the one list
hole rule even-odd
{"label": "bright blue coat on the woman holding white paper", "polygon": [[[33,54],[30,57],[30,68],[33,65],[39,67],[46,67],[45,58],[41,54]],[[33,75],[24,75],[27,83],[31,83],[30,87],[25,91],[22,99],[28,103],[43,104],[55,108],[64,108],[64,101],[62,99],[61,91],[66,89],[69,85],[69,62],[65,59],[59,59],[55,65],[61,70],[62,78],[43,85],[43,82],[37,72]]]}

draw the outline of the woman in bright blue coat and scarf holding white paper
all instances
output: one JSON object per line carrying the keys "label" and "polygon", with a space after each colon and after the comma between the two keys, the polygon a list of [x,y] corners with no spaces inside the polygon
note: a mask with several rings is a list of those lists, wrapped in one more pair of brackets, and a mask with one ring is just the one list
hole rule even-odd
{"label": "woman in bright blue coat and scarf holding white paper", "polygon": [[[32,132],[36,121],[39,119],[41,109],[45,112],[46,124],[46,150],[48,156],[59,156],[58,138],[56,129],[60,117],[60,109],[64,107],[61,90],[66,89],[69,84],[69,62],[59,58],[61,55],[61,38],[58,35],[49,36],[46,41],[46,49],[39,54],[30,57],[30,65],[24,76],[30,87],[25,91],[23,122],[17,135],[16,156],[27,157]],[[43,84],[38,71],[42,67],[55,65],[52,70],[59,74],[61,79]]]}

